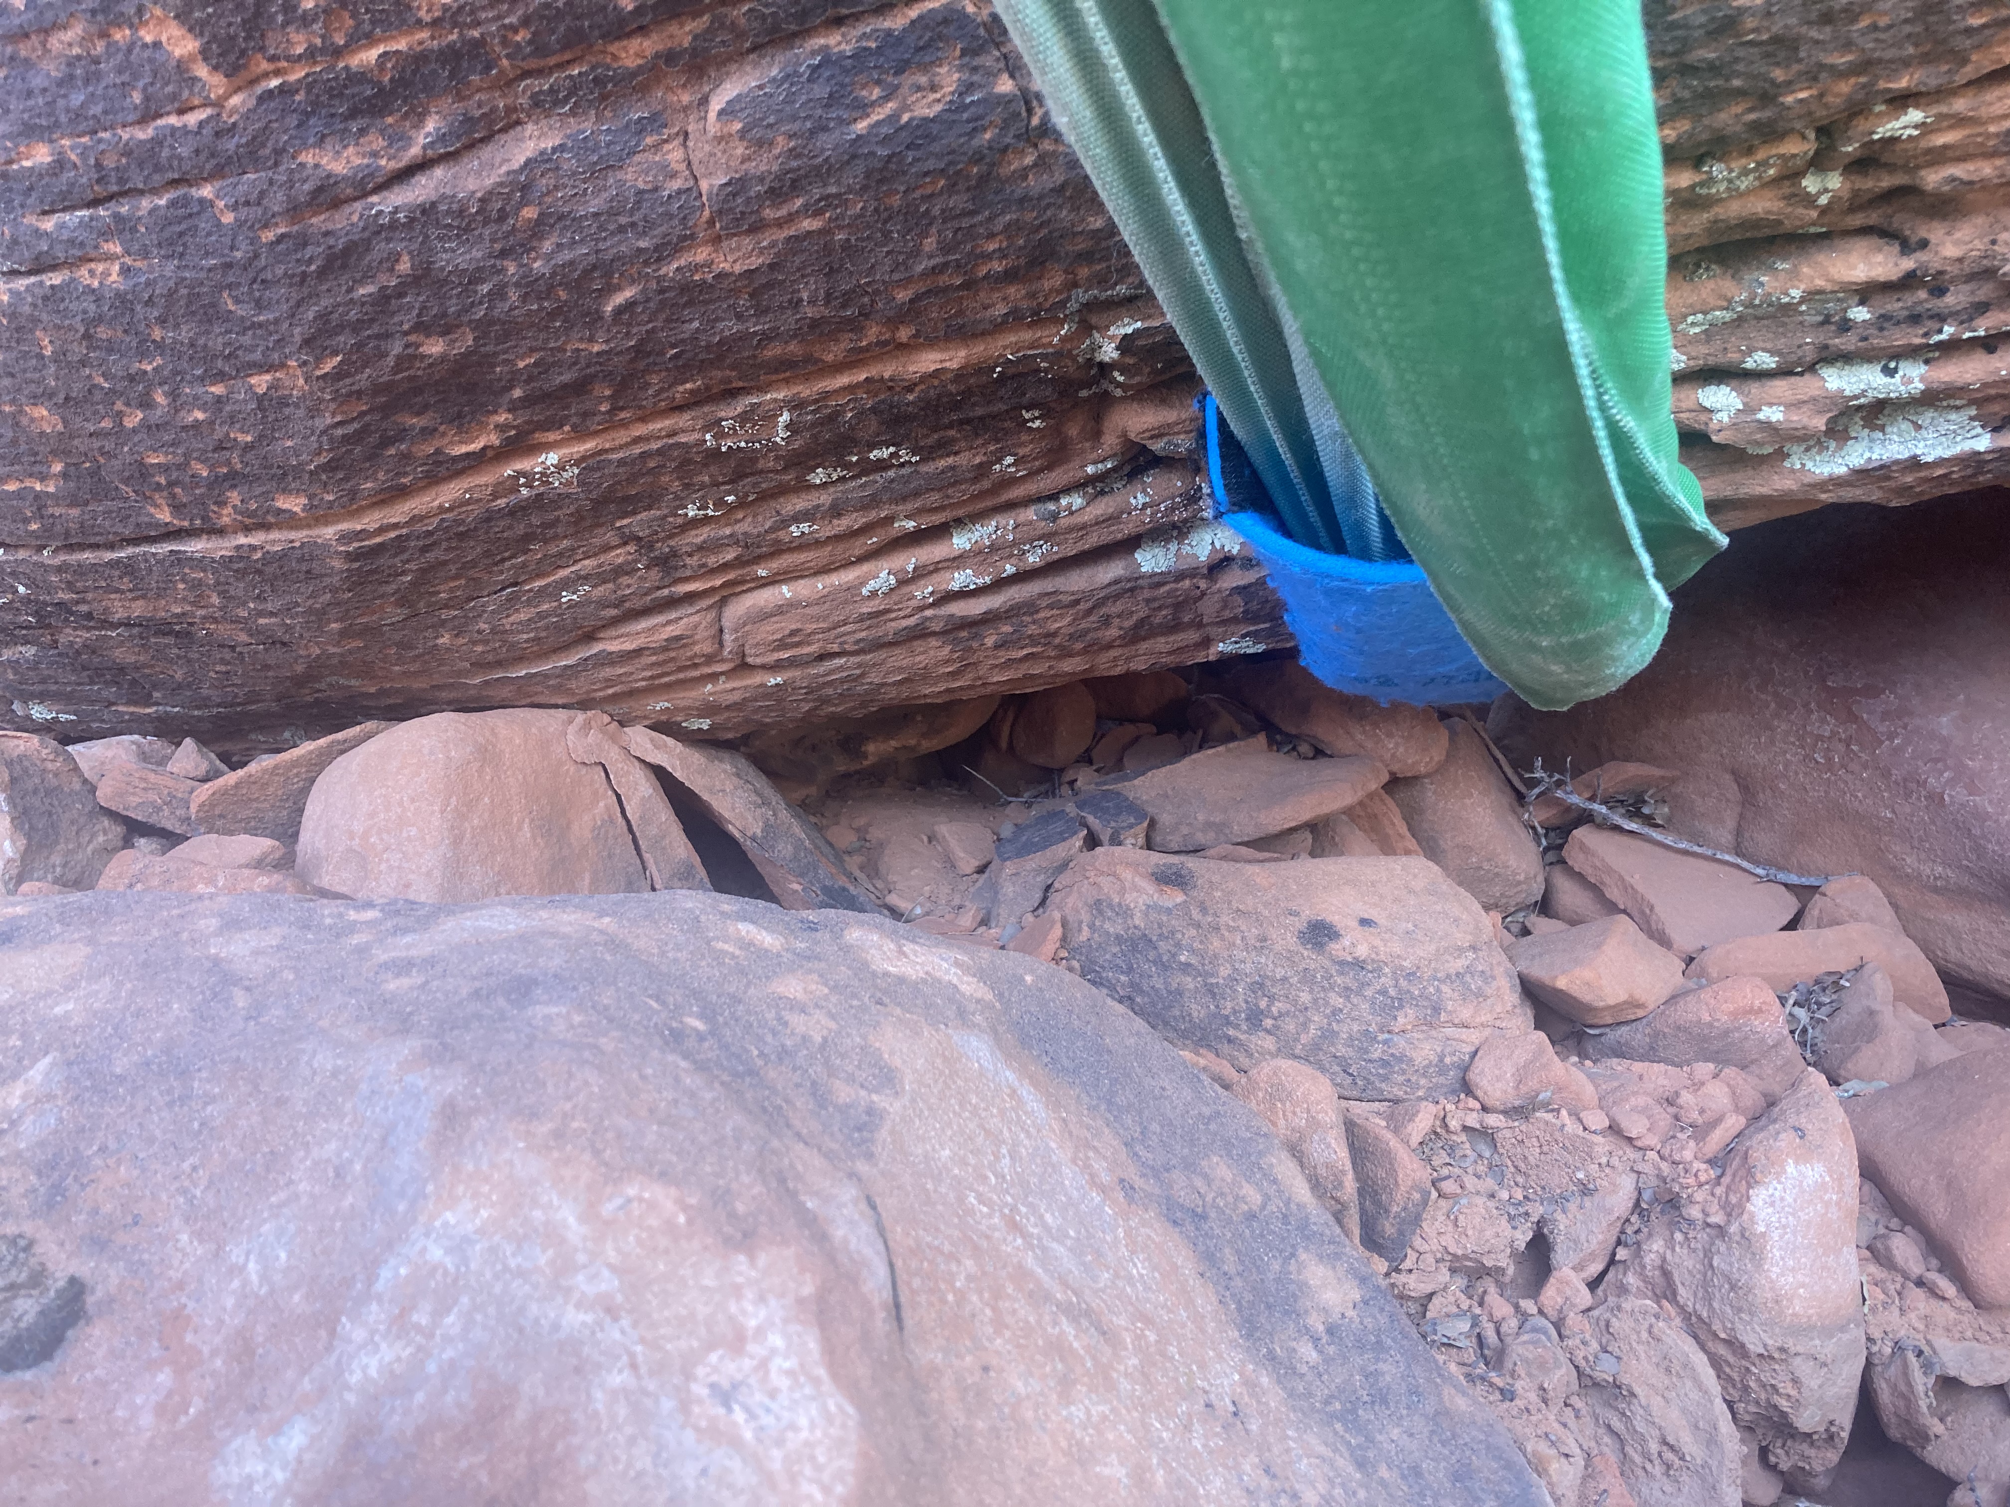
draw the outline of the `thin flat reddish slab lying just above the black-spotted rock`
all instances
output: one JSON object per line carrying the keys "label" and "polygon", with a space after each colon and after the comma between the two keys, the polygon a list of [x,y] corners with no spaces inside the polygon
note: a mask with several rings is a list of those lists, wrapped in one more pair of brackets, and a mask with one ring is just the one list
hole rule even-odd
{"label": "thin flat reddish slab lying just above the black-spotted rock", "polygon": [[1152,816],[1146,842],[1158,852],[1200,852],[1224,842],[1274,838],[1319,822],[1381,790],[1375,760],[1298,760],[1260,737],[1192,754],[1178,764],[1116,782]]}

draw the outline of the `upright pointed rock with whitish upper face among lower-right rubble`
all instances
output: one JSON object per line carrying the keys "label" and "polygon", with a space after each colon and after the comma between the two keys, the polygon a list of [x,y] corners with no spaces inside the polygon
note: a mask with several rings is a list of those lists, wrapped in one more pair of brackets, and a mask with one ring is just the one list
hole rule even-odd
{"label": "upright pointed rock with whitish upper face among lower-right rubble", "polygon": [[1809,1069],[1694,1206],[1656,1214],[1604,1292],[1670,1302],[1769,1463],[1815,1475],[1841,1459],[1857,1409],[1855,1230],[1849,1121]]}

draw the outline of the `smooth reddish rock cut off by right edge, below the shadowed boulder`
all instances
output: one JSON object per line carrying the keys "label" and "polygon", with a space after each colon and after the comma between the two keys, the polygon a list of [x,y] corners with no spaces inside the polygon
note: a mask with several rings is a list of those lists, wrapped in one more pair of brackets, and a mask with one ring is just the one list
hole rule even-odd
{"label": "smooth reddish rock cut off by right edge, below the shadowed boulder", "polygon": [[2010,1051],[1962,1053],[1843,1101],[1863,1175],[1982,1308],[2010,1308]]}

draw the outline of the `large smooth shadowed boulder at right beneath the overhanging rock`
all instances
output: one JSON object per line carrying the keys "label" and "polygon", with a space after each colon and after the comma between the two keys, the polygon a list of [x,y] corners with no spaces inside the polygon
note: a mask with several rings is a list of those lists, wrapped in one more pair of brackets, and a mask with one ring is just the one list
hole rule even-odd
{"label": "large smooth shadowed boulder at right beneath the overhanging rock", "polygon": [[1863,874],[1950,983],[2010,999],[2004,579],[2000,494],[1769,522],[1674,593],[1668,639],[1628,685],[1562,713],[1503,703],[1495,735],[1520,768],[1680,768],[1678,836]]}

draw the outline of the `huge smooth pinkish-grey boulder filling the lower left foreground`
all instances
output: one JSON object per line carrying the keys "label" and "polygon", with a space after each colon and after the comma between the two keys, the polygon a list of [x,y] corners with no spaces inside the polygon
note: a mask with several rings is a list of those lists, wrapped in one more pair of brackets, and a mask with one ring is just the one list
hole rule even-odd
{"label": "huge smooth pinkish-grey boulder filling the lower left foreground", "polygon": [[1544,1501],[1065,973],[699,892],[0,902],[8,1489]]}

